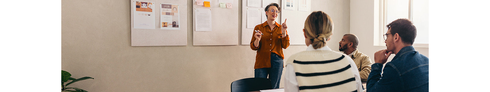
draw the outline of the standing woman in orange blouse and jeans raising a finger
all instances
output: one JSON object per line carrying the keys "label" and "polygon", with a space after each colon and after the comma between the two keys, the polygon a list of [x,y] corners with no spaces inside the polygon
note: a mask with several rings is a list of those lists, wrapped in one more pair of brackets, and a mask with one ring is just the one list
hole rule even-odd
{"label": "standing woman in orange blouse and jeans raising a finger", "polygon": [[284,68],[284,54],[282,48],[289,46],[289,35],[286,33],[288,26],[286,21],[282,23],[274,22],[281,7],[277,3],[270,3],[265,8],[267,22],[256,25],[253,30],[250,48],[257,50],[255,56],[255,77],[267,78],[271,80],[272,89],[279,88],[281,81],[282,69]]}

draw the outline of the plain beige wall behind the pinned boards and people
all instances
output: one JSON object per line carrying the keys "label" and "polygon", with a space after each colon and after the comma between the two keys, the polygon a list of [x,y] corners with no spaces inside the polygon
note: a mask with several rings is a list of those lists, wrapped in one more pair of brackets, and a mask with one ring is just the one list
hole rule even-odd
{"label": "plain beige wall behind the pinned boards and people", "polygon": [[[61,69],[74,78],[95,78],[69,87],[91,92],[229,92],[231,82],[253,77],[255,51],[248,45],[192,46],[193,1],[187,3],[188,46],[131,46],[129,0],[62,0]],[[241,0],[235,3],[242,5]],[[333,50],[338,51],[337,43],[349,32],[349,3],[312,1],[312,11],[324,11],[334,20],[328,45]],[[289,46],[286,59],[305,48]]]}

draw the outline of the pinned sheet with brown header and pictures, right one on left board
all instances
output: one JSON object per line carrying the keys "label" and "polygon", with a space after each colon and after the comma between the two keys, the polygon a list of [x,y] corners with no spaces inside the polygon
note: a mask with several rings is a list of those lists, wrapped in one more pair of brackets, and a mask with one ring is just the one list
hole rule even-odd
{"label": "pinned sheet with brown header and pictures, right one on left board", "polygon": [[179,5],[161,3],[160,29],[180,30]]}

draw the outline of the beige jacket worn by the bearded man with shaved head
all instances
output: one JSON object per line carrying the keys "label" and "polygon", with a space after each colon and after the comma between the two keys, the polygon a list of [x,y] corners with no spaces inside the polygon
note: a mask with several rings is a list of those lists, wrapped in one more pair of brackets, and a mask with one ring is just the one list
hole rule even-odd
{"label": "beige jacket worn by the bearded man with shaved head", "polygon": [[[344,52],[345,53],[345,52]],[[368,81],[369,73],[371,72],[371,59],[368,55],[359,52],[358,49],[352,52],[352,60],[356,63],[357,69],[359,70],[359,74],[361,75],[361,81]]]}

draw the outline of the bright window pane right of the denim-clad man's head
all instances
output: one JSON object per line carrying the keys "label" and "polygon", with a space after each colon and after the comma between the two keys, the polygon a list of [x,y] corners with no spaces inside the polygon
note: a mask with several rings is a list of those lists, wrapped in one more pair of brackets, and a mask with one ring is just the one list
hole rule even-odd
{"label": "bright window pane right of the denim-clad man's head", "polygon": [[414,44],[429,44],[429,1],[412,0],[413,19],[417,28],[417,37]]}

